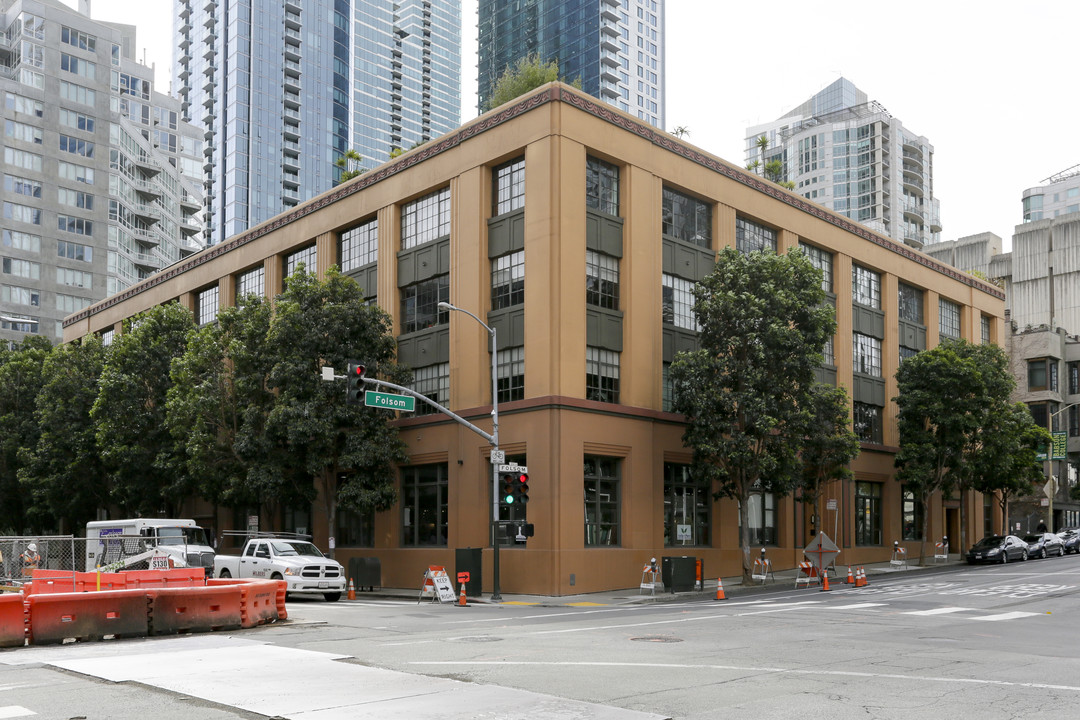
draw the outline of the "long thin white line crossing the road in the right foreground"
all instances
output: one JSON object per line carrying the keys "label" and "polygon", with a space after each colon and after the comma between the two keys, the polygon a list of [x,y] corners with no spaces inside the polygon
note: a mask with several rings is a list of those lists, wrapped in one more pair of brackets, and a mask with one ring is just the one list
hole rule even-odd
{"label": "long thin white line crossing the road in the right foreground", "polygon": [[[508,665],[531,665],[531,666],[564,666],[564,667],[624,667],[624,668],[644,668],[644,669],[686,669],[686,670],[730,670],[733,673],[750,673],[750,674],[764,674],[771,673],[773,675],[804,675],[804,676],[822,676],[822,677],[836,677],[836,678],[865,678],[875,680],[910,680],[913,682],[940,682],[945,684],[969,684],[969,685],[995,685],[999,688],[1034,688],[1037,690],[1063,690],[1068,692],[1080,693],[1080,687],[1078,685],[1057,685],[1047,682],[1016,682],[1013,680],[987,680],[983,678],[943,678],[940,676],[932,675],[903,675],[900,673],[864,673],[859,670],[825,670],[825,669],[814,669],[814,668],[804,668],[804,667],[754,667],[747,665],[703,665],[703,664],[684,664],[684,663],[607,663],[607,662],[578,662],[578,661],[513,661],[513,660],[500,660],[500,661],[413,661],[408,663],[409,665],[440,665],[440,666],[481,666],[481,665],[498,665],[500,667],[505,667]],[[747,678],[753,679],[753,678]]]}

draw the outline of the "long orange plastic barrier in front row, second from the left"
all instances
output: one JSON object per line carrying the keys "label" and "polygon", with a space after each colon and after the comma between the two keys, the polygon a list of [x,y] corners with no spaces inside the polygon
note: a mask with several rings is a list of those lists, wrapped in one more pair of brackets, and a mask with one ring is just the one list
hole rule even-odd
{"label": "long orange plastic barrier in front row, second from the left", "polygon": [[30,644],[147,634],[144,590],[33,594],[27,596],[26,603]]}

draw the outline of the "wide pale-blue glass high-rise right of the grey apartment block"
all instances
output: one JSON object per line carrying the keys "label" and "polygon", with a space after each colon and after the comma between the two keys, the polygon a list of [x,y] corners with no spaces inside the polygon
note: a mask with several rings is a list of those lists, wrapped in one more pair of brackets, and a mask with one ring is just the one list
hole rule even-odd
{"label": "wide pale-blue glass high-rise right of the grey apartment block", "polygon": [[174,0],[174,84],[221,242],[456,127],[460,0]]}

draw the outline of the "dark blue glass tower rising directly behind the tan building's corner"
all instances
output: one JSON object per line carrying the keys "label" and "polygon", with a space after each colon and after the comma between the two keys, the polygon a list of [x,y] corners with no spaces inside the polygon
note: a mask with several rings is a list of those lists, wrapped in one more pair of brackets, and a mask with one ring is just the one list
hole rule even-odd
{"label": "dark blue glass tower rising directly behind the tan building's corner", "polygon": [[666,0],[480,0],[478,109],[528,55],[558,60],[567,82],[663,127]]}

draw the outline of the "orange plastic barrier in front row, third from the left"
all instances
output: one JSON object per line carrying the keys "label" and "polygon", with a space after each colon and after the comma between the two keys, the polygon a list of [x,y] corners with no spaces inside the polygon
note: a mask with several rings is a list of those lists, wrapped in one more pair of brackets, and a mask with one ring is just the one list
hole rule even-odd
{"label": "orange plastic barrier in front row, third from the left", "polygon": [[162,587],[146,590],[150,635],[206,633],[241,626],[237,585],[217,587]]}

